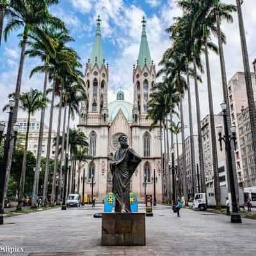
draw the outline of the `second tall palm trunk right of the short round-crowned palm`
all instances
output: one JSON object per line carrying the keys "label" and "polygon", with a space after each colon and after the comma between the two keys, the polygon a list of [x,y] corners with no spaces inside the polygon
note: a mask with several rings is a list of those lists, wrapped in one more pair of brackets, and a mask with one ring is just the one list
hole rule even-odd
{"label": "second tall palm trunk right of the short round-crowned palm", "polygon": [[56,87],[56,79],[54,79],[53,86],[52,86],[52,101],[51,101],[51,109],[50,109],[49,131],[48,131],[47,152],[46,152],[45,173],[44,173],[44,192],[43,192],[44,206],[46,206],[45,203],[47,202],[47,194],[48,194],[49,161],[50,161],[51,141],[52,141],[52,116],[53,116],[53,108],[54,108],[55,87]]}

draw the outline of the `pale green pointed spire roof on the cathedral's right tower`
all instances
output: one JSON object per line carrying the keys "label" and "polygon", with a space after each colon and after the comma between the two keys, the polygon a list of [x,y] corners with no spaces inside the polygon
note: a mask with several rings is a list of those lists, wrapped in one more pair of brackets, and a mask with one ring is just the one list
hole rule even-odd
{"label": "pale green pointed spire roof on the cathedral's right tower", "polygon": [[140,41],[140,53],[139,53],[139,65],[140,68],[142,69],[145,65],[145,59],[147,63],[148,69],[152,66],[151,62],[151,56],[150,56],[150,51],[148,47],[148,40],[147,40],[147,33],[146,33],[146,20],[145,17],[143,17],[142,20],[142,34],[141,34],[141,41]]}

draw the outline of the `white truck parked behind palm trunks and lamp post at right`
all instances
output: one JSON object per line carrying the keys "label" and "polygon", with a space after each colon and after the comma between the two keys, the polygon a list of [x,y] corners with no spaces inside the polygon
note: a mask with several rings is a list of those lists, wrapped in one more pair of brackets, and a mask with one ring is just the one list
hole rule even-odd
{"label": "white truck parked behind palm trunks and lamp post at right", "polygon": [[[231,205],[231,195],[228,193],[226,187],[220,188],[220,204],[221,207],[226,205],[226,197],[230,200]],[[239,188],[239,206],[244,207],[244,194],[243,189]],[[216,207],[215,193],[214,189],[207,189],[207,193],[196,193],[193,200],[193,209],[199,209],[200,211],[205,211],[207,208]]]}

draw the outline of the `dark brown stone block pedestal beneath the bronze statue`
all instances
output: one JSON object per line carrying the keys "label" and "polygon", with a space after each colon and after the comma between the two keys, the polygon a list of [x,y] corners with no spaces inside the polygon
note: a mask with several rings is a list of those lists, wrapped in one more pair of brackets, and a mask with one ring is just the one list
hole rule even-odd
{"label": "dark brown stone block pedestal beneath the bronze statue", "polygon": [[101,245],[146,245],[145,213],[103,213]]}

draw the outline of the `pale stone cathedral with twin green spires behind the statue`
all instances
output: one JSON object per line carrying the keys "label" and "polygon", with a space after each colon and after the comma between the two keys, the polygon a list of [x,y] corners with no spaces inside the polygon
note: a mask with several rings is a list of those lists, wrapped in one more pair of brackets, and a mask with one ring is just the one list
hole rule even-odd
{"label": "pale stone cathedral with twin green spires behind the statue", "polygon": [[[148,47],[146,21],[142,20],[140,50],[136,65],[133,66],[133,104],[125,101],[122,90],[116,92],[116,100],[108,102],[108,81],[111,76],[104,60],[100,17],[93,43],[91,58],[86,63],[85,83],[88,102],[82,102],[77,127],[88,138],[92,161],[83,164],[86,175],[84,194],[92,194],[102,200],[111,192],[112,175],[109,163],[119,147],[118,137],[125,134],[129,146],[141,156],[142,161],[132,175],[130,191],[138,198],[145,193],[154,195],[154,172],[156,177],[156,198],[162,198],[161,179],[161,136],[159,125],[150,131],[152,121],[147,119],[148,99],[156,82],[156,69]],[[122,84],[120,85],[122,87]],[[83,175],[83,170],[78,177]],[[76,188],[77,188],[76,181]],[[80,183],[82,194],[83,184]]]}

